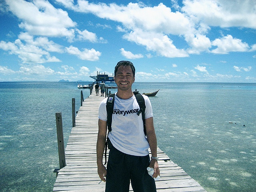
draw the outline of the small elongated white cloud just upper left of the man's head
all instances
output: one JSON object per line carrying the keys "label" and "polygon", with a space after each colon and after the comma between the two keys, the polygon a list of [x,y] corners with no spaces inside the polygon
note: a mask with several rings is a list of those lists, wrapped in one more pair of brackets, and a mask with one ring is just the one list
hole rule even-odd
{"label": "small elongated white cloud just upper left of the man's head", "polygon": [[66,47],[66,52],[72,55],[76,55],[78,58],[82,60],[96,61],[99,60],[101,53],[96,51],[95,49],[84,49],[80,51],[77,47],[69,46]]}

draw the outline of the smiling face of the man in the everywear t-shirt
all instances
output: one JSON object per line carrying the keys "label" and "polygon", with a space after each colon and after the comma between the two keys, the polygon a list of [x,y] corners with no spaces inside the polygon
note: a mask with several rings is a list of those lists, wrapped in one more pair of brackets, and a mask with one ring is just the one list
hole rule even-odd
{"label": "smiling face of the man in the everywear t-shirt", "polygon": [[132,89],[132,84],[135,81],[132,68],[130,66],[120,66],[116,71],[114,80],[118,86],[118,89],[123,91]]}

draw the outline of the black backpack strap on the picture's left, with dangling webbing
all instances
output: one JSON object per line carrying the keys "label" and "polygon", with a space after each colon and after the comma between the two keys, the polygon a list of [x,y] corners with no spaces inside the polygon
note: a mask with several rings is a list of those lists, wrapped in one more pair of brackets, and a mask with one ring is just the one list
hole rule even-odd
{"label": "black backpack strap on the picture's left, with dangling webbing", "polygon": [[[114,110],[114,99],[115,99],[115,94],[111,94],[108,96],[107,104],[106,104],[106,109],[107,109],[107,126],[108,126],[108,134],[112,130],[111,124],[112,124],[112,114]],[[105,164],[107,163],[107,149],[108,149],[108,142],[109,138],[107,135],[107,140],[105,144]]]}

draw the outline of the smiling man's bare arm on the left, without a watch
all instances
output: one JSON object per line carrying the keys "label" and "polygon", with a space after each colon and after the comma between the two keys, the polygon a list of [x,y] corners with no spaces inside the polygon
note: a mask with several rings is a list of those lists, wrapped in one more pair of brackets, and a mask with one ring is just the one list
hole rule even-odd
{"label": "smiling man's bare arm on the left, without a watch", "polygon": [[98,121],[98,139],[97,139],[97,166],[98,166],[98,175],[100,176],[100,179],[104,182],[106,182],[107,170],[105,166],[103,165],[102,159],[106,144],[106,135],[107,135],[107,122],[100,120]]}

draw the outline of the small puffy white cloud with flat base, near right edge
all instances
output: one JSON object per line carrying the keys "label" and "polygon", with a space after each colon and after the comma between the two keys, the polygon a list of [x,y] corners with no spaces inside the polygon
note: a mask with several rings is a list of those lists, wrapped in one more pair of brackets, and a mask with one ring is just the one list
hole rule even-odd
{"label": "small puffy white cloud with flat base, near right edge", "polygon": [[212,53],[216,54],[228,54],[229,52],[246,52],[249,49],[247,43],[243,43],[242,40],[233,38],[231,35],[216,39],[212,42],[213,46],[217,46],[212,50]]}

